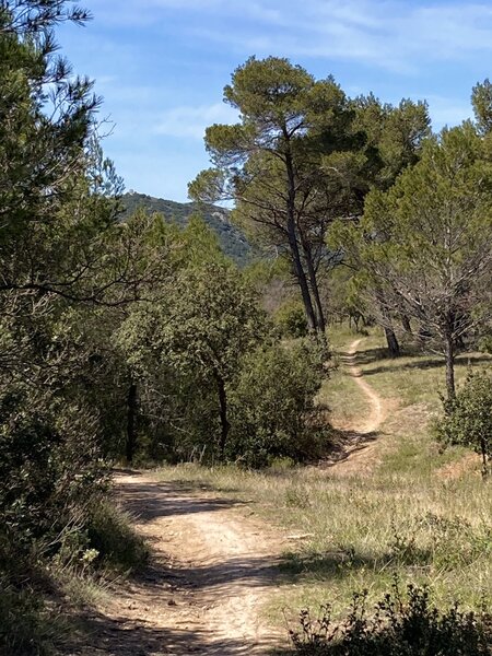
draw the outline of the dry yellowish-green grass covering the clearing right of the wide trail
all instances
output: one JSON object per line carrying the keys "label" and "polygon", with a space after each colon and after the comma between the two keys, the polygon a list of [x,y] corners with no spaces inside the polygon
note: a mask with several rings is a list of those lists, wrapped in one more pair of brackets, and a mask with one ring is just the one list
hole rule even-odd
{"label": "dry yellowish-green grass covering the clearing right of the wide trail", "polygon": [[[343,350],[358,336],[336,335]],[[235,467],[164,468],[165,480],[207,482],[219,493],[253,500],[255,512],[285,534],[312,534],[285,550],[282,586],[270,612],[282,622],[282,609],[295,617],[304,606],[330,601],[347,608],[355,589],[370,600],[385,591],[395,573],[402,582],[429,584],[438,604],[459,597],[466,608],[492,600],[492,489],[479,473],[479,458],[449,448],[440,453],[429,421],[440,411],[444,371],[438,359],[380,359],[382,336],[361,343],[359,366],[366,380],[399,407],[382,427],[385,448],[371,476],[337,476],[335,468],[293,468],[263,472]],[[461,359],[458,382],[468,360],[490,366],[478,354]],[[321,398],[335,422],[365,411],[360,389],[340,368],[326,383]],[[382,441],[383,443],[383,441]]]}

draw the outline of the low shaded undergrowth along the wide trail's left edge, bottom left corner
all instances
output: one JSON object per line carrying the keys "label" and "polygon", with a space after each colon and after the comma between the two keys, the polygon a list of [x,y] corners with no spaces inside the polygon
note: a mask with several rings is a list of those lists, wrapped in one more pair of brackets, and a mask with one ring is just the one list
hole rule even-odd
{"label": "low shaded undergrowth along the wide trail's left edge, bottom left corner", "polygon": [[16,560],[0,554],[0,654],[59,653],[77,614],[105,598],[107,582],[145,564],[149,549],[130,519],[97,497],[84,523],[67,530],[55,552],[39,543]]}

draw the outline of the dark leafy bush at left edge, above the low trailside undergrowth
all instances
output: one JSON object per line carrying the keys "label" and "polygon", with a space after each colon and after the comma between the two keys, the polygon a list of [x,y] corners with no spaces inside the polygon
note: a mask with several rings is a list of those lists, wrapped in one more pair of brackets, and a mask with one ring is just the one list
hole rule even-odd
{"label": "dark leafy bush at left edge, above the low trailside undergrowth", "polygon": [[93,494],[104,489],[96,421],[52,395],[0,396],[0,565],[36,542],[57,551],[66,528],[82,526]]}

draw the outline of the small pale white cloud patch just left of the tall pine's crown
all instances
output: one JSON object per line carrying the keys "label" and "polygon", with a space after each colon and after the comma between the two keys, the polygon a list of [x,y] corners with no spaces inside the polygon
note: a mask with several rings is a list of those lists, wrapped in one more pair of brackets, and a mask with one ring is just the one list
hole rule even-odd
{"label": "small pale white cloud patch just left of the tall pine's crown", "polygon": [[167,137],[202,139],[204,130],[212,124],[233,124],[237,112],[223,103],[198,107],[173,107],[160,117],[154,132]]}

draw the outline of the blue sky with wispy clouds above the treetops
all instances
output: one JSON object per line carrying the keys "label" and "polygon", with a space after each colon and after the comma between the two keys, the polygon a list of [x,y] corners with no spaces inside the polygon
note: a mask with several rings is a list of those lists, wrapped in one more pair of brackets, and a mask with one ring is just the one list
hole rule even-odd
{"label": "blue sky with wispy clouds above the treetops", "polygon": [[94,20],[58,39],[104,97],[104,149],[127,189],[177,201],[208,165],[204,128],[234,122],[222,89],[250,55],[331,73],[350,96],[426,98],[435,129],[469,117],[472,85],[492,78],[492,0],[81,3]]}

